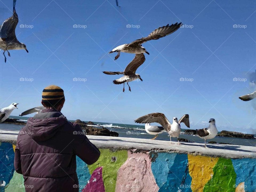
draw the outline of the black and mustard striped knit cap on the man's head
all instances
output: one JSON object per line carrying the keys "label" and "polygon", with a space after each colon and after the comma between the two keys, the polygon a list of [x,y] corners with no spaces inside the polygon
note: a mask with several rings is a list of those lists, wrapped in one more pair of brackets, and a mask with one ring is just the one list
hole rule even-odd
{"label": "black and mustard striped knit cap on the man's head", "polygon": [[64,97],[64,91],[56,85],[50,85],[43,89],[42,101],[60,100]]}

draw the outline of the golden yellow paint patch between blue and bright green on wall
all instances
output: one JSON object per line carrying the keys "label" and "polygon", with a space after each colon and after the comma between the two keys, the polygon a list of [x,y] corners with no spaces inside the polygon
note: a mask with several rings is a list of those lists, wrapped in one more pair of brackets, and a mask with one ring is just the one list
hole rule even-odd
{"label": "golden yellow paint patch between blue and bright green on wall", "polygon": [[192,178],[191,190],[203,192],[205,184],[213,177],[213,167],[219,158],[205,157],[201,155],[187,155],[189,161],[189,174]]}

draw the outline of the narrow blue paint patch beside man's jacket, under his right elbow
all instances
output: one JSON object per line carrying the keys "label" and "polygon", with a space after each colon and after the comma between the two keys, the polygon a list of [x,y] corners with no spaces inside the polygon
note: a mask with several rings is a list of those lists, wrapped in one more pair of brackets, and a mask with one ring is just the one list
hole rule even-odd
{"label": "narrow blue paint patch beside man's jacket, under his right elbow", "polygon": [[79,191],[82,191],[90,180],[91,174],[87,164],[79,157],[77,157],[77,177],[79,181]]}

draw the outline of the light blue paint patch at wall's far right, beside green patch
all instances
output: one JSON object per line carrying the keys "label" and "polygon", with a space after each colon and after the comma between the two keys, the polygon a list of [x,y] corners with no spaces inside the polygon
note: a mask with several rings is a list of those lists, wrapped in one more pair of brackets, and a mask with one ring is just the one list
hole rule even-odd
{"label": "light blue paint patch at wall's far right, beside green patch", "polygon": [[235,184],[245,182],[246,192],[256,191],[256,159],[231,159],[237,178]]}

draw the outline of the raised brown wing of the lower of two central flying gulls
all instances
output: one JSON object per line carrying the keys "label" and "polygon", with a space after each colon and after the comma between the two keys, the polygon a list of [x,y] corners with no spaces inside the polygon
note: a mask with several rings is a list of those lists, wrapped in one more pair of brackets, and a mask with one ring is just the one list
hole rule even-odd
{"label": "raised brown wing of the lower of two central flying gulls", "polygon": [[125,75],[133,75],[135,74],[136,70],[141,66],[145,61],[145,55],[143,53],[141,54],[135,54],[135,57],[133,60],[126,66],[123,73]]}

